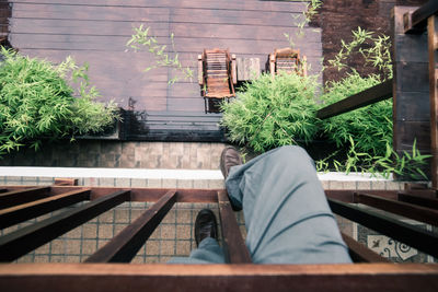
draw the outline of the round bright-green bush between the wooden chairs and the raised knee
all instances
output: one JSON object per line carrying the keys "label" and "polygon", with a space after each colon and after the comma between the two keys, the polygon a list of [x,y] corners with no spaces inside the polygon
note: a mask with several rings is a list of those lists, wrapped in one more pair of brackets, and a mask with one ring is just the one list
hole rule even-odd
{"label": "round bright-green bush between the wooden chairs and the raised knee", "polygon": [[315,79],[281,73],[263,74],[244,86],[231,103],[223,103],[222,126],[229,139],[255,151],[307,143],[318,131]]}

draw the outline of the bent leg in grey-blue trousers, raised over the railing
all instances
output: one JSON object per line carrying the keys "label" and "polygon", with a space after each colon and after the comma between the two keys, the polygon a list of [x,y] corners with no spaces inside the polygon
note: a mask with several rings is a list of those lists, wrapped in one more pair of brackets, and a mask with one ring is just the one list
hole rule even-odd
{"label": "bent leg in grey-blue trousers, raised over the railing", "polygon": [[253,262],[350,262],[313,161],[299,147],[281,147],[239,166],[226,180],[243,208]]}

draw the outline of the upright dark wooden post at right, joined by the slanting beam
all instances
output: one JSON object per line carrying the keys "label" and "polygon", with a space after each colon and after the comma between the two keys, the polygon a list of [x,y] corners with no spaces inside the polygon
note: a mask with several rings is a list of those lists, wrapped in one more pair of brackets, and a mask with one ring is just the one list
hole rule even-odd
{"label": "upright dark wooden post at right, joined by the slanting beam", "polygon": [[416,9],[395,7],[392,12],[393,147],[399,154],[411,152],[414,141],[422,154],[430,153],[427,36],[405,34],[403,22],[403,15]]}

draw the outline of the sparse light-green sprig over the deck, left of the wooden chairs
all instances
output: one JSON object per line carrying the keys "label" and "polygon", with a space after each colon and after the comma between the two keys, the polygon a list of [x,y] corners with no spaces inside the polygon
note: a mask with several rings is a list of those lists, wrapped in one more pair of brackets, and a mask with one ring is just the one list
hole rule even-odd
{"label": "sparse light-green sprig over the deck, left of the wooden chairs", "polygon": [[145,69],[145,72],[148,72],[149,70],[152,70],[154,68],[159,67],[168,67],[172,68],[175,72],[178,72],[180,74],[174,77],[173,79],[169,80],[169,84],[173,84],[176,81],[180,80],[181,77],[183,77],[185,80],[189,80],[191,82],[193,81],[193,70],[189,67],[183,67],[178,54],[175,50],[175,43],[174,43],[174,35],[173,33],[171,34],[171,44],[172,44],[172,50],[175,57],[171,57],[166,52],[166,45],[160,45],[157,40],[157,37],[150,36],[149,35],[150,27],[143,27],[141,24],[139,27],[134,27],[135,34],[131,36],[131,38],[126,43],[126,46],[129,46],[130,48],[135,50],[139,50],[140,46],[145,47],[148,49],[150,54],[153,55],[155,59],[155,65],[147,67]]}

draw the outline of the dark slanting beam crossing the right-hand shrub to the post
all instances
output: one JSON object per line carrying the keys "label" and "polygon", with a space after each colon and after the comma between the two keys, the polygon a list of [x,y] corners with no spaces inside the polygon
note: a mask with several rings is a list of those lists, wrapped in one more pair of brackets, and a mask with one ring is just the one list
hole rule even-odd
{"label": "dark slanting beam crossing the right-hand shrub to the post", "polygon": [[390,97],[392,97],[392,79],[321,108],[316,112],[316,117],[326,119]]}

